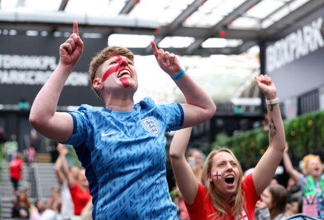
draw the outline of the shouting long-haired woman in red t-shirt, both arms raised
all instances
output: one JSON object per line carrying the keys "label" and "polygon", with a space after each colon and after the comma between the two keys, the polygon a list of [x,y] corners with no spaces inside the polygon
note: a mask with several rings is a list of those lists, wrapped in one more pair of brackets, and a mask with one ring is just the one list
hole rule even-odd
{"label": "shouting long-haired woman in red t-shirt, both arms raised", "polygon": [[275,86],[267,75],[256,76],[255,82],[267,99],[269,147],[246,178],[234,154],[216,148],[206,159],[199,183],[185,158],[192,128],[178,130],[173,137],[171,164],[190,220],[254,219],[256,202],[269,185],[286,144]]}

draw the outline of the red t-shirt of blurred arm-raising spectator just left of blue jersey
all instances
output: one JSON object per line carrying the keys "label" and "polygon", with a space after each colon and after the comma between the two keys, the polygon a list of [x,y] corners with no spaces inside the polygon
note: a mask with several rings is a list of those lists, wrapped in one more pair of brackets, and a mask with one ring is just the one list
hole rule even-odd
{"label": "red t-shirt of blurred arm-raising spectator just left of blue jersey", "polygon": [[70,193],[74,204],[74,214],[79,215],[91,198],[89,188],[84,192],[77,184],[74,184],[70,188]]}

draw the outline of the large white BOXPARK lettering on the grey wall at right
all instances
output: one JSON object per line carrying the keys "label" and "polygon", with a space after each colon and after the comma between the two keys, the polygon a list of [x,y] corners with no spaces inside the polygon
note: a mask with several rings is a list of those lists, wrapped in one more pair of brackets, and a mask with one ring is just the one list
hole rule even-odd
{"label": "large white BOXPARK lettering on the grey wall at right", "polygon": [[319,17],[311,24],[305,25],[268,46],[266,49],[267,72],[269,73],[322,48],[324,46],[324,40],[320,33],[322,22],[323,19]]}

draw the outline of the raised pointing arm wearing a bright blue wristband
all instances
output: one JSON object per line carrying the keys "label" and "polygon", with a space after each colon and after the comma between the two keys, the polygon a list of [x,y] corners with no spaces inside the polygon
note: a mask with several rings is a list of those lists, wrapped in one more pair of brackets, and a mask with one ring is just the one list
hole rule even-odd
{"label": "raised pointing arm wearing a bright blue wristband", "polygon": [[157,49],[154,41],[151,47],[158,65],[168,73],[183,93],[187,104],[181,104],[184,111],[183,127],[190,127],[209,120],[216,111],[211,96],[181,69],[174,54]]}

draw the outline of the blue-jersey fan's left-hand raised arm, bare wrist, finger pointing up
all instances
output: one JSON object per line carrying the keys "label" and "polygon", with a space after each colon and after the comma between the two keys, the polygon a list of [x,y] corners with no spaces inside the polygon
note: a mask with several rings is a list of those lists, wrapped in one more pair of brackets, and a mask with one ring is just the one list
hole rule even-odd
{"label": "blue-jersey fan's left-hand raised arm, bare wrist, finger pointing up", "polygon": [[66,112],[56,112],[64,83],[83,53],[76,21],[73,33],[60,46],[60,61],[49,80],[37,94],[29,115],[31,125],[43,136],[59,142],[67,141],[73,131],[73,120]]}

